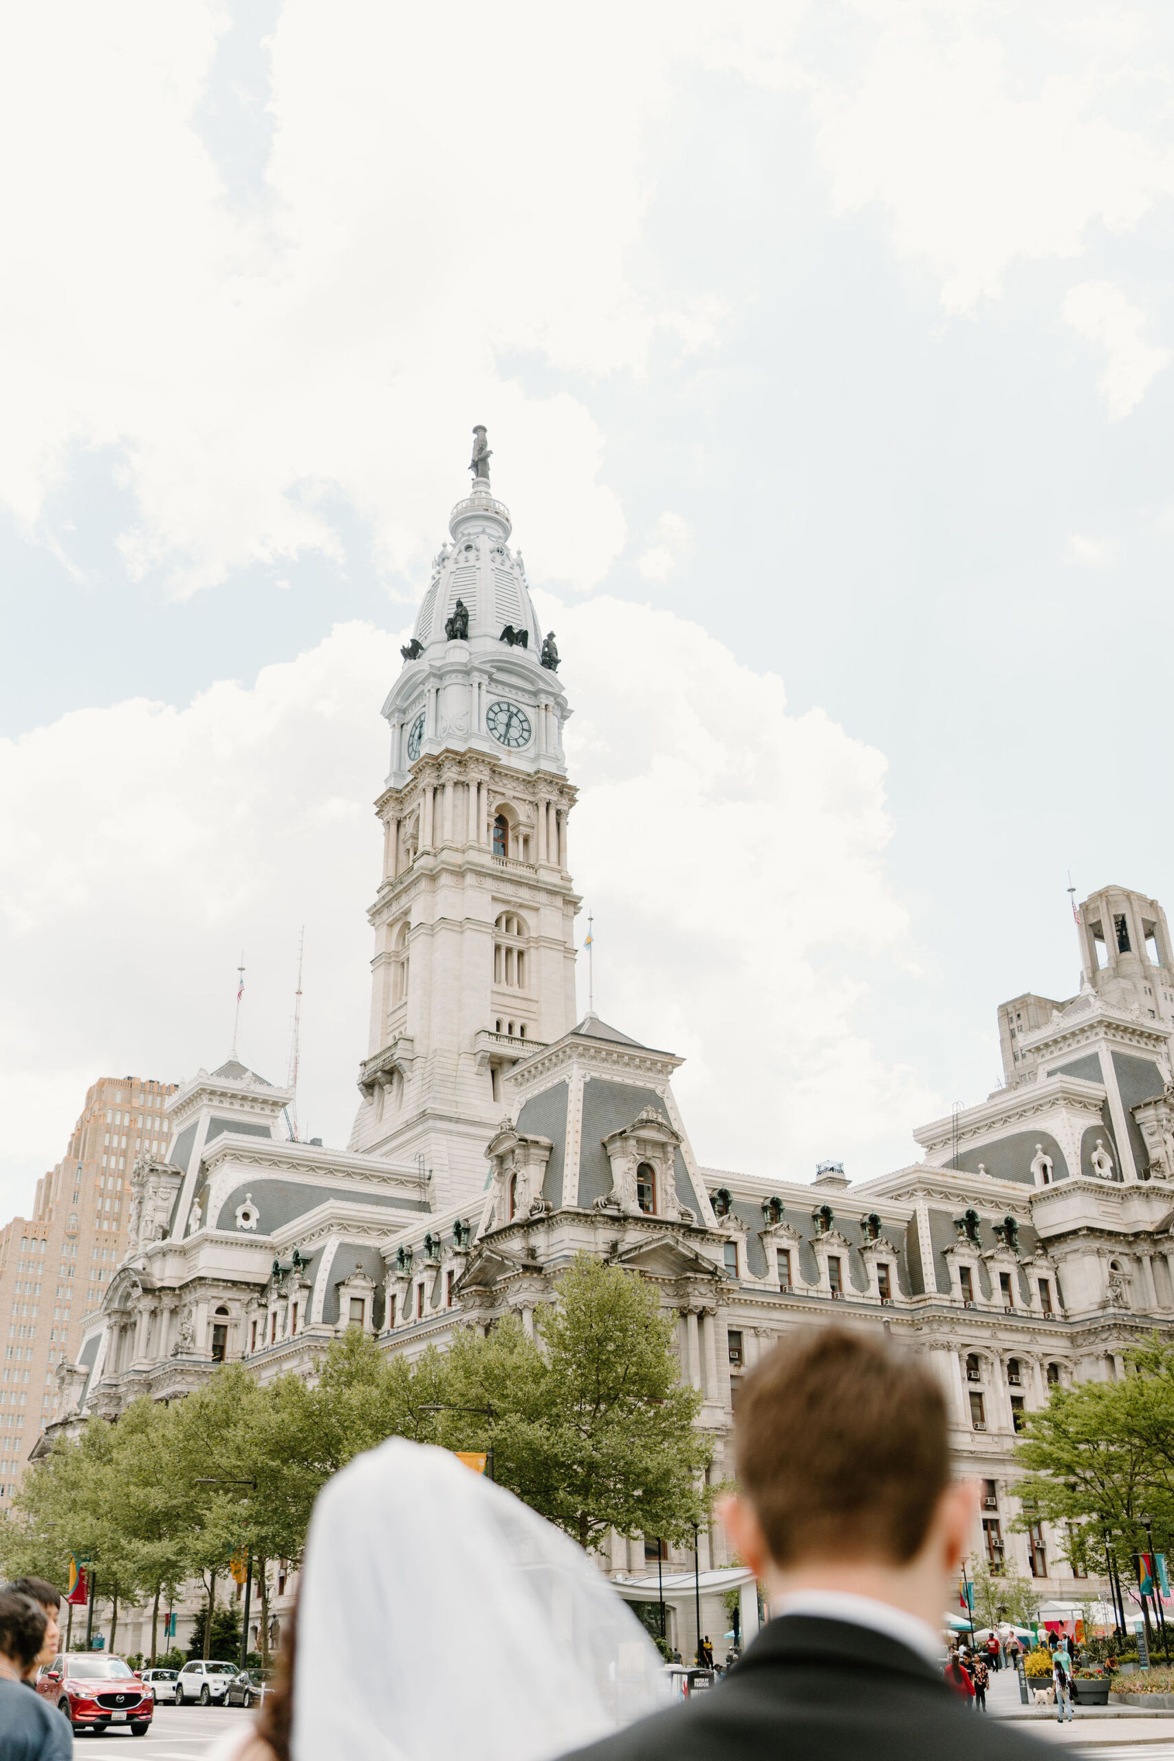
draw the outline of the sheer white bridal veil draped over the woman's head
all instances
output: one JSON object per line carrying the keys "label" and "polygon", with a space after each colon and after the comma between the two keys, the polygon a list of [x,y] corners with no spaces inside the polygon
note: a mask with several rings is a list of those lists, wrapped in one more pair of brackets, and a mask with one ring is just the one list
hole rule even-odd
{"label": "sheer white bridal veil draped over the woman's head", "polygon": [[393,1437],[319,1495],[294,1761],[549,1761],[662,1705],[660,1655],[574,1541]]}

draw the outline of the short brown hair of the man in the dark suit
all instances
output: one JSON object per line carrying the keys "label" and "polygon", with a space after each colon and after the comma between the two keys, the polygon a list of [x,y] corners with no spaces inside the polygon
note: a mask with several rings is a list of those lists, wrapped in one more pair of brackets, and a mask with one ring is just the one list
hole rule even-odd
{"label": "short brown hair of the man in the dark suit", "polygon": [[949,1485],[945,1398],[914,1356],[841,1328],[803,1331],[746,1377],[736,1455],[778,1566],[903,1566]]}

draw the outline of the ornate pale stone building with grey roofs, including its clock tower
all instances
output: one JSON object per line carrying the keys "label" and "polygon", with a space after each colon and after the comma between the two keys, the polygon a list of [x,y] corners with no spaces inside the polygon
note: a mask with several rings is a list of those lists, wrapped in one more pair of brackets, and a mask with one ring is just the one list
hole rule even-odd
{"label": "ornate pale stone building with grey roofs, including its clock tower", "polygon": [[[1086,1595],[1061,1532],[1010,1532],[1012,1444],[1053,1386],[1123,1375],[1130,1345],[1174,1321],[1162,907],[1116,886],[1081,905],[1077,993],[1000,1006],[1005,1085],[921,1125],[908,1168],[848,1182],[834,1162],[813,1180],[699,1166],[681,1060],[576,1020],[570,704],[488,461],[479,430],[384,703],[350,1143],[290,1141],[290,1092],[236,1058],[171,1094],[167,1148],[136,1162],[125,1257],[58,1368],[39,1448],[79,1414],[181,1396],[218,1363],[313,1375],[350,1326],[408,1354],[505,1314],[532,1330],[588,1252],[676,1315],[715,1477],[732,1472],[741,1377],[780,1335],[884,1331],[942,1381],[984,1493],[975,1551],[1030,1571],[1046,1599]],[[613,1537],[613,1574],[655,1573],[648,1548]],[[692,1564],[674,1551],[665,1571]],[[702,1536],[702,1573],[725,1564]]]}

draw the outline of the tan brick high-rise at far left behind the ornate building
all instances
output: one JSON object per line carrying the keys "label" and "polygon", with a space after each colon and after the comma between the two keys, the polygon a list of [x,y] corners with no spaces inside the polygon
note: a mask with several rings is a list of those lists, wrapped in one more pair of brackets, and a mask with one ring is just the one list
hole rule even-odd
{"label": "tan brick high-rise at far left behind the ornate building", "polygon": [[136,1155],[165,1157],[174,1083],[102,1076],[65,1155],[37,1182],[30,1217],[0,1229],[0,1509],[55,1414],[56,1365],[127,1252]]}

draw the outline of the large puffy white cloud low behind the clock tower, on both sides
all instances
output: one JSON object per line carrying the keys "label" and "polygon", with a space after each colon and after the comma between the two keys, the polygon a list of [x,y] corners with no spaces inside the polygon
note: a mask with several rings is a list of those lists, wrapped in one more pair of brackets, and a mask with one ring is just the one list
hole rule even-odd
{"label": "large puffy white cloud low behind the clock tower, on both sides", "polygon": [[[671,613],[546,599],[576,717],[576,880],[598,1006],[688,1057],[702,1157],[806,1173],[938,1106],[857,1025],[864,960],[903,960],[884,759]],[[99,1074],[241,1053],[282,1078],[306,926],[303,1125],[345,1143],[366,1051],[398,645],[338,627],[187,708],[77,710],[0,743],[0,1069],[11,1203],[65,1148]],[[586,991],[583,986],[583,1002]],[[46,1074],[51,1072],[51,1074]]]}

